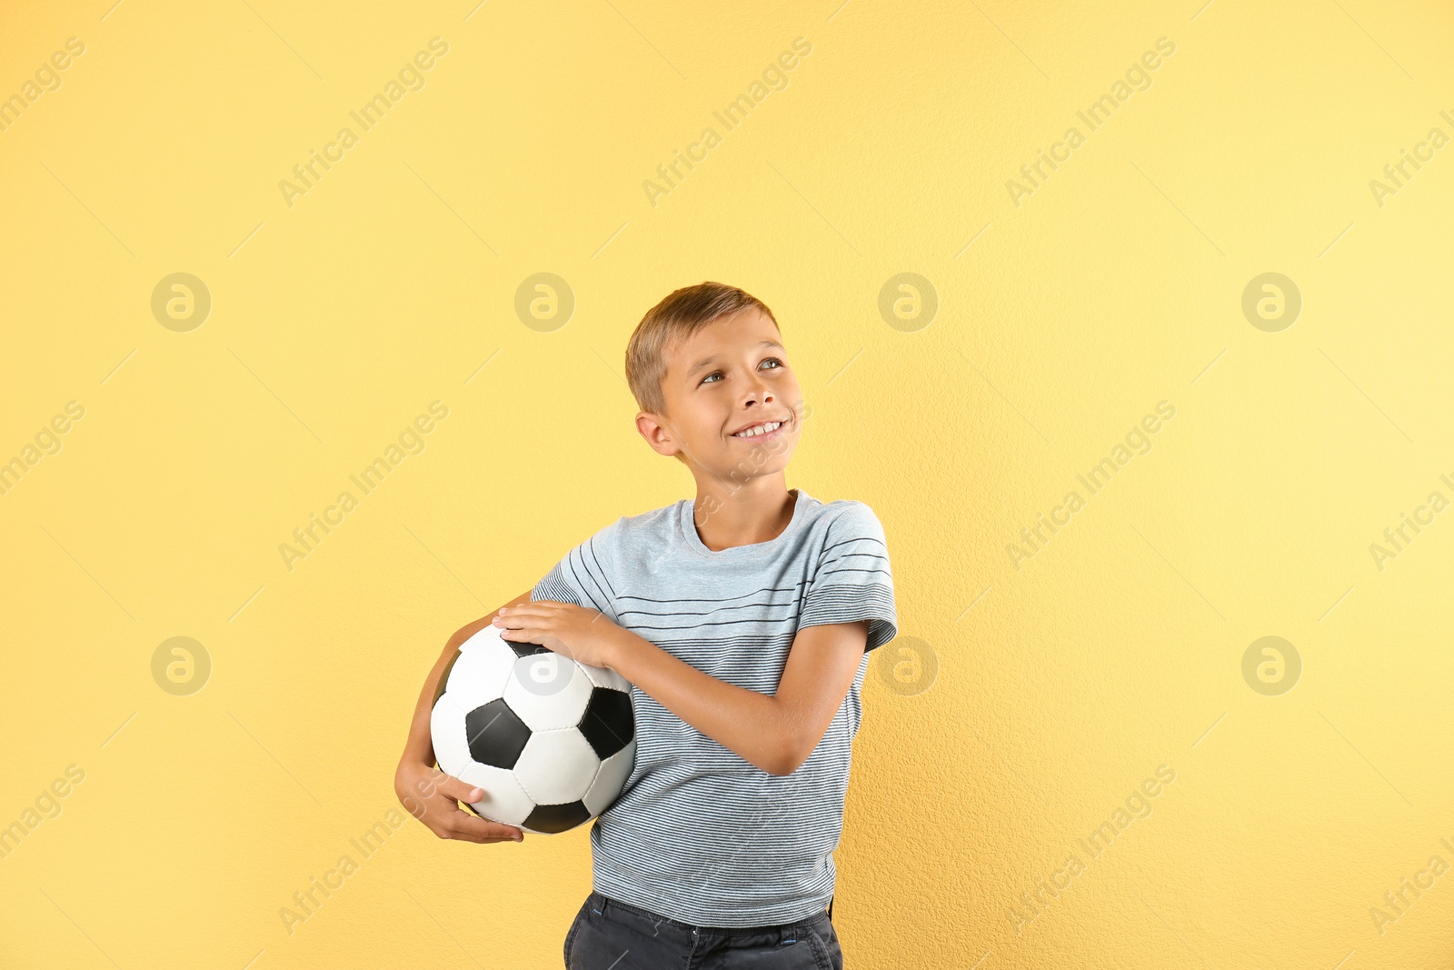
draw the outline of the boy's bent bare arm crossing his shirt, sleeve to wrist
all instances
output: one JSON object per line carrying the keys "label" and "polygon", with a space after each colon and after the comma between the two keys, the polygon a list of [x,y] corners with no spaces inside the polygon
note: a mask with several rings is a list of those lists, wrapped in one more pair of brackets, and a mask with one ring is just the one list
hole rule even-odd
{"label": "boy's bent bare arm crossing his shirt, sleeve to wrist", "polygon": [[723,747],[791,775],[823,740],[868,644],[868,621],[803,627],[775,695],[718,681],[612,624],[609,666]]}

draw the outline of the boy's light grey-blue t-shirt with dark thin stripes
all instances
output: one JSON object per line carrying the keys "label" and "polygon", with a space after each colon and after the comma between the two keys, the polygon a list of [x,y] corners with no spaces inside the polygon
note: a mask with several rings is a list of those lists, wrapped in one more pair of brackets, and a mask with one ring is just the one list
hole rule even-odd
{"label": "boy's light grey-blue t-shirt with dark thin stripes", "polygon": [[800,627],[869,621],[848,697],[791,775],[753,766],[632,686],[635,766],[590,829],[598,893],[698,926],[795,922],[833,894],[868,650],[893,640],[899,620],[874,510],[794,492],[792,521],[766,542],[708,550],[694,500],[682,499],[602,528],[531,590],[599,609],[679,660],[769,695]]}

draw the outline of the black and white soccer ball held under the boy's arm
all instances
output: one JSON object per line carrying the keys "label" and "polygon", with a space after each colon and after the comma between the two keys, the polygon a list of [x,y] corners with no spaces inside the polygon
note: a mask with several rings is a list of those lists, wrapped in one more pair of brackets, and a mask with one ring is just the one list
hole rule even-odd
{"label": "black and white soccer ball held under the boy's arm", "polygon": [[484,627],[439,678],[430,736],[439,768],[484,791],[477,816],[566,832],[605,811],[631,775],[631,682]]}

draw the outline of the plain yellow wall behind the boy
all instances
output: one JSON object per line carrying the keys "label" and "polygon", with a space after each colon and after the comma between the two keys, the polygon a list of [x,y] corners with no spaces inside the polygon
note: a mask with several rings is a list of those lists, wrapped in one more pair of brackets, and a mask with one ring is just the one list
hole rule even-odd
{"label": "plain yellow wall behind the boy", "polygon": [[[890,541],[899,669],[865,685],[836,854],[851,967],[1450,966],[1454,873],[1370,915],[1454,864],[1454,512],[1370,554],[1454,497],[1454,147],[1368,185],[1454,134],[1445,4],[409,7],[0,13],[0,96],[86,45],[0,132],[0,461],[86,409],[0,496],[0,825],[86,772],[0,859],[3,966],[560,966],[586,826],[480,846],[406,817],[291,934],[279,909],[397,810],[445,637],[694,493],[637,436],[622,350],[702,279],[782,323],[813,404],[788,484]],[[279,180],[433,36],[425,87],[289,207]],[[212,298],[185,333],[151,313],[174,272]],[[537,272],[576,298],[551,332],[515,313]],[[903,272],[928,326],[880,314]],[[1264,272],[1303,297],[1277,333],[1240,307]],[[433,400],[425,451],[286,569]],[[1152,451],[1015,569],[1162,400]],[[212,660],[189,697],[151,675],[176,636]],[[1275,697],[1242,675],[1264,636],[1303,663]],[[1157,765],[1152,814],[1077,851]]]}

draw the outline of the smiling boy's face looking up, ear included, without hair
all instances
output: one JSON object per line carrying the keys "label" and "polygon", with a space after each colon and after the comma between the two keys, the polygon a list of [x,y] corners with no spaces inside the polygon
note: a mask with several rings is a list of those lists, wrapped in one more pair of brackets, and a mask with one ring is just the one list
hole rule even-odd
{"label": "smiling boy's face looking up, ear included, without hair", "polygon": [[[666,413],[640,412],[637,429],[659,454],[676,455],[701,480],[781,474],[798,444],[803,393],[782,337],[756,307],[721,317],[663,349]],[[782,422],[750,438],[734,432]]]}

